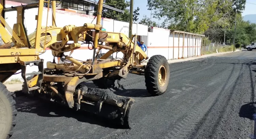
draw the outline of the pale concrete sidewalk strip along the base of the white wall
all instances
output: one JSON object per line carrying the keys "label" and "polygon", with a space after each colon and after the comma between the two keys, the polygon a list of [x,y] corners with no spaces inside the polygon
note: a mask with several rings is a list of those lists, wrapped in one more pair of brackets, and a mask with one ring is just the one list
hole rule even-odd
{"label": "pale concrete sidewalk strip along the base of the white wall", "polygon": [[[198,56],[198,57],[190,57],[190,58],[185,58],[185,59],[174,59],[174,60],[168,60],[168,63],[185,63],[185,62],[189,62],[189,61],[195,61],[195,60],[200,60],[200,59],[204,59],[204,58],[209,58],[209,57],[214,57],[214,56],[219,56],[219,55],[225,55],[225,54],[230,54],[230,53],[235,53],[235,52],[241,52],[240,50],[236,50],[236,51],[231,51],[231,52],[223,52],[223,53],[214,53],[214,54],[209,54],[209,55],[203,55],[203,56]],[[180,61],[182,60],[182,61]],[[142,65],[147,65],[146,63],[141,63]]]}

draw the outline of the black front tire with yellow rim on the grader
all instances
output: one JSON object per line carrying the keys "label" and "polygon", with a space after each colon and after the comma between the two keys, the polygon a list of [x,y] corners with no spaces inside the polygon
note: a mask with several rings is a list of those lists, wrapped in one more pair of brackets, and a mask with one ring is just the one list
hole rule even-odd
{"label": "black front tire with yellow rim on the grader", "polygon": [[159,96],[165,93],[170,78],[168,61],[161,55],[152,56],[145,69],[145,83],[148,93]]}

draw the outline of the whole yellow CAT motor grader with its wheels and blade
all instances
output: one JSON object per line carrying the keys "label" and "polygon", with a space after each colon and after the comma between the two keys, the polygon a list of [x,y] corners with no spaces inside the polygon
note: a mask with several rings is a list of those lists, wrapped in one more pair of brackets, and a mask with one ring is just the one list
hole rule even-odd
{"label": "whole yellow CAT motor grader with its wheels and blade", "polygon": [[[53,25],[41,26],[44,3],[52,2]],[[115,119],[124,127],[129,128],[129,111],[134,99],[115,95],[107,91],[117,80],[126,79],[128,73],[145,76],[147,91],[152,96],[165,93],[169,82],[169,66],[165,57],[152,56],[147,65],[140,61],[148,59],[142,49],[136,45],[137,35],[128,38],[123,33],[101,31],[100,24],[103,0],[99,0],[96,24],[85,23],[84,26],[67,25],[56,27],[56,1],[39,0],[37,3],[4,8],[1,1],[0,12],[17,11],[17,23],[13,29],[0,16],[0,138],[9,138],[16,124],[15,100],[13,92],[3,84],[8,78],[21,69],[24,79],[22,92],[44,97],[48,100],[66,105],[75,110],[85,110],[109,119]],[[37,28],[30,35],[24,27],[24,10],[38,8],[36,16]],[[47,13],[48,17],[48,13]],[[6,29],[5,29],[6,28]],[[9,33],[11,34],[9,34]],[[68,43],[73,41],[73,43]],[[79,41],[93,44],[93,58],[87,61],[77,60],[64,55],[64,52],[79,49]],[[103,45],[103,42],[105,44]],[[69,63],[57,64],[47,62],[43,67],[43,59],[39,58],[49,48],[54,57],[63,58]],[[96,49],[97,52],[96,52]],[[100,49],[108,49],[105,54],[99,54]],[[113,53],[122,52],[123,58],[109,58]],[[26,66],[34,64],[39,71],[26,73]],[[32,78],[28,79],[27,76]],[[90,88],[83,82],[93,81],[98,88]]]}

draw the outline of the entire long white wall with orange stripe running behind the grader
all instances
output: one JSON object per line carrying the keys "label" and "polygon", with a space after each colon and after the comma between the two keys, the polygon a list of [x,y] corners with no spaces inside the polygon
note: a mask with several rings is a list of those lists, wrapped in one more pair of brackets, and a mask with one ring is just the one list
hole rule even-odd
{"label": "entire long white wall with orange stripe running behind the grader", "polygon": [[[6,1],[6,7],[11,6],[18,6],[20,3]],[[26,9],[25,10],[25,25],[27,28],[28,34],[31,34],[35,31],[35,28],[37,26],[37,20],[35,20],[35,15],[38,14],[38,8],[33,9]],[[47,18],[47,8],[43,9],[43,20],[42,20],[42,26],[46,26],[46,18]],[[17,19],[17,12],[7,12],[5,13],[5,20],[6,22],[13,27],[13,24],[16,23]],[[76,25],[76,26],[83,26],[84,23],[96,23],[95,16],[80,14],[80,13],[74,13],[74,12],[67,12],[62,10],[56,10],[56,25],[58,27],[63,27],[65,25]],[[129,23],[128,22],[122,22],[117,21],[113,19],[106,19],[102,18],[101,24],[103,28],[106,29],[108,32],[118,32],[118,33],[124,33],[128,36],[129,34]],[[48,14],[48,26],[52,25],[52,10],[49,10]],[[132,27],[132,34],[139,35],[140,39],[143,40],[147,46],[146,54],[148,57],[151,57],[153,55],[163,55],[167,59],[177,59],[183,56],[187,57],[187,39],[185,38],[184,41],[184,51],[182,51],[183,46],[183,36],[180,34],[180,39],[178,38],[179,34],[176,33],[174,36],[174,45],[173,45],[173,34],[170,33],[170,30],[168,29],[162,29],[162,28],[152,28],[152,32],[148,32],[148,26],[142,25],[142,24],[136,24],[133,23]],[[190,45],[189,45],[189,57],[191,56],[197,56],[200,55],[200,46],[201,43],[198,45],[199,47],[195,47],[195,36],[194,40],[192,36],[190,36]],[[200,39],[197,39],[200,40]],[[201,40],[200,40],[201,41]],[[82,42],[81,42],[82,43]],[[193,44],[194,43],[194,44]],[[178,47],[179,46],[179,47]],[[197,46],[197,45],[196,45]],[[89,46],[92,47],[91,45]],[[195,48],[196,48],[196,54],[195,54]],[[100,53],[106,53],[108,50],[102,49]],[[174,55],[173,55],[174,51]],[[70,52],[66,52],[65,54],[68,55]],[[74,50],[73,54],[71,55],[75,59],[79,60],[87,60],[91,59],[93,57],[93,51],[88,49],[88,44],[82,44],[80,49]],[[114,53],[113,57],[122,58],[122,53]],[[47,49],[46,52],[42,55],[40,55],[41,59],[44,59],[44,67],[46,67],[47,61],[53,61],[53,56],[51,50]],[[57,58],[56,58],[57,61]],[[27,68],[27,73],[38,71],[37,66],[32,66]],[[18,71],[20,72],[20,71]],[[13,75],[12,78],[21,78],[20,74]]]}

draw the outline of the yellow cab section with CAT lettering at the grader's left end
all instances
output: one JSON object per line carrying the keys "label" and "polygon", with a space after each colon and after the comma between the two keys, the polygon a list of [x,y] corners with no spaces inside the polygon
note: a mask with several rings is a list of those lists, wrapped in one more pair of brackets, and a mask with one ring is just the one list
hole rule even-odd
{"label": "yellow cab section with CAT lettering at the grader's left end", "polygon": [[4,23],[5,23],[4,19],[1,20],[3,23],[3,24],[0,24],[0,33],[2,35],[2,40],[5,43],[15,42],[16,44],[13,48],[10,48],[10,49],[0,49],[1,64],[18,63],[19,60],[32,61],[32,60],[39,59],[38,57],[38,55],[40,54],[39,52],[42,52],[42,49],[40,48],[39,44],[40,44],[40,38],[41,38],[41,28],[42,28],[41,24],[42,24],[44,1],[40,0],[39,3],[28,4],[26,5],[26,7],[21,5],[21,6],[16,6],[12,8],[3,8],[3,4],[4,2],[1,2],[1,5],[0,5],[1,15],[3,15],[4,12],[13,11],[13,10],[17,11],[17,23],[14,24],[12,34],[13,36],[17,35],[19,39],[22,41],[22,43],[25,45],[25,47],[28,47],[29,45],[27,42],[26,32],[24,31],[24,27],[23,27],[24,10],[27,8],[33,8],[33,7],[38,7],[39,10],[38,10],[37,31],[35,34],[34,48],[21,48],[24,46],[22,46],[22,44],[19,44],[13,38],[13,36],[10,36],[10,34],[4,28]]}

